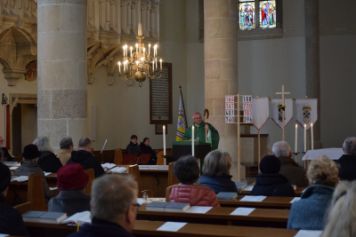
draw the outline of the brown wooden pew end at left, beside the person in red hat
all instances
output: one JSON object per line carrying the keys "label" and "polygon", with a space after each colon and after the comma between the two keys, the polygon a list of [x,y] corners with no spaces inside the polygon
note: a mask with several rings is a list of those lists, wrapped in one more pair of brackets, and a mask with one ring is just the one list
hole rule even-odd
{"label": "brown wooden pew end at left, beside the person in red hat", "polygon": [[38,172],[29,175],[28,182],[11,182],[4,204],[20,211],[46,210],[41,174]]}

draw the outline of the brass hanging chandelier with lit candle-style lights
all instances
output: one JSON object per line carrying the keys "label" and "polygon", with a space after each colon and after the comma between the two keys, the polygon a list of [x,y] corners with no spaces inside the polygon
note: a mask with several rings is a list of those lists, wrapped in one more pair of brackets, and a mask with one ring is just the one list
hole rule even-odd
{"label": "brass hanging chandelier with lit candle-style lights", "polygon": [[121,74],[121,62],[118,64],[118,76],[123,81],[135,79],[139,86],[142,87],[142,83],[146,80],[146,77],[150,79],[160,78],[162,76],[162,59],[159,59],[158,70],[158,46],[153,47],[153,55],[150,53],[150,43],[148,51],[142,43],[144,36],[142,36],[142,24],[139,22],[138,34],[136,36],[138,42],[135,45],[136,51],[133,52],[134,47],[130,46],[130,56],[128,56],[128,46],[125,44],[123,47],[123,74]]}

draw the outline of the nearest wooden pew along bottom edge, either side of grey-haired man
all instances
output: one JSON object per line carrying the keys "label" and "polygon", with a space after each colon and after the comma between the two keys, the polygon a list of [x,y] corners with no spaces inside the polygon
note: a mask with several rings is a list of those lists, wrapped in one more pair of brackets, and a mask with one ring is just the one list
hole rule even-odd
{"label": "nearest wooden pew along bottom edge, either side of grey-haired man", "polygon": [[[134,224],[134,235],[140,236],[167,236],[167,237],[293,237],[297,230],[287,230],[278,228],[246,227],[231,225],[184,225],[178,232],[158,231],[158,227],[164,225],[163,221],[136,220]],[[69,233],[77,231],[77,225],[60,225],[50,223],[25,222],[28,233],[31,236],[67,236]]]}

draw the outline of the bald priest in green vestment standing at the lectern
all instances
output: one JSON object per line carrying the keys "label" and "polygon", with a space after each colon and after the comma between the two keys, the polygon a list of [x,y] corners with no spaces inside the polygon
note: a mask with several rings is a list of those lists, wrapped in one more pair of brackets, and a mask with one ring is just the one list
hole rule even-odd
{"label": "bald priest in green vestment standing at the lectern", "polygon": [[[212,151],[219,146],[219,132],[215,130],[212,124],[206,123],[201,115],[196,112],[193,115],[194,139],[210,143]],[[191,126],[185,130],[183,140],[191,140]]]}

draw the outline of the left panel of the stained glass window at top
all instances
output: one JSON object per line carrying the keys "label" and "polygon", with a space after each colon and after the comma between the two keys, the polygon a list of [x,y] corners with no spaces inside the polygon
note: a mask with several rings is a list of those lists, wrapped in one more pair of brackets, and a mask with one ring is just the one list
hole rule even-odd
{"label": "left panel of the stained glass window at top", "polygon": [[239,28],[255,28],[255,1],[239,0]]}

